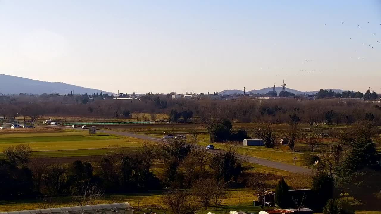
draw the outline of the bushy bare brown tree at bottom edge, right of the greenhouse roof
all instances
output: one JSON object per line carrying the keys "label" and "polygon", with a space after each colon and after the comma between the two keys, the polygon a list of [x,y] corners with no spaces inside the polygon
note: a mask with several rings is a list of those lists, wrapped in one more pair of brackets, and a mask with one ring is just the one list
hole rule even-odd
{"label": "bushy bare brown tree at bottom edge, right of the greenhouse roof", "polygon": [[169,190],[163,194],[162,201],[173,214],[194,214],[202,207],[195,203],[189,192],[181,190]]}

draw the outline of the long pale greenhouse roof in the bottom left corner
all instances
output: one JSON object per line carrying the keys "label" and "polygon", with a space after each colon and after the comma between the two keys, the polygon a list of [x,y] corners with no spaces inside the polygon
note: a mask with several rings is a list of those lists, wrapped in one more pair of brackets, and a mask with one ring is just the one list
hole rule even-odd
{"label": "long pale greenhouse roof in the bottom left corner", "polygon": [[22,211],[0,212],[0,214],[133,214],[129,203],[96,204],[50,209],[30,209]]}

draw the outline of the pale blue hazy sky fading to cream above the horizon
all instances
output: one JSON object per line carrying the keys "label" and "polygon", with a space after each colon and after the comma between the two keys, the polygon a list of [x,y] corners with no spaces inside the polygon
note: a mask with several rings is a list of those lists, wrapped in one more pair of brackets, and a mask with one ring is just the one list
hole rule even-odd
{"label": "pale blue hazy sky fading to cream above the horizon", "polygon": [[379,0],[0,0],[0,73],[105,91],[379,93],[380,59]]}

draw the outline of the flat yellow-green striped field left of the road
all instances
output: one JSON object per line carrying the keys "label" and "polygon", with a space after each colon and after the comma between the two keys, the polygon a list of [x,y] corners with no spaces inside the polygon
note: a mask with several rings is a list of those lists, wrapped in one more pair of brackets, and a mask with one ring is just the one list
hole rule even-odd
{"label": "flat yellow-green striped field left of the road", "polygon": [[29,144],[33,156],[45,157],[77,157],[86,155],[102,155],[110,146],[139,147],[141,139],[105,133],[88,134],[88,131],[71,132],[38,132],[0,135],[0,151],[4,148]]}

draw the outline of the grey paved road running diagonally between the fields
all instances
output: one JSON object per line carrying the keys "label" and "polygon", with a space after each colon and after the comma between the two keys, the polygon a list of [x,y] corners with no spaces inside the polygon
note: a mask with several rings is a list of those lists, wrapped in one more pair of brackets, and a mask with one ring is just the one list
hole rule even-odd
{"label": "grey paved road running diagonally between the fields", "polygon": [[[57,126],[55,126],[55,127],[57,127]],[[68,126],[59,126],[57,128],[69,128],[69,127]],[[70,129],[72,129],[72,128],[70,128]],[[73,129],[80,129],[80,128],[73,128]],[[143,135],[143,134],[134,134],[131,132],[111,131],[111,130],[107,130],[107,129],[97,130],[97,132],[107,133],[107,134],[116,134],[116,135],[127,136],[127,137],[134,137],[134,138],[143,139],[143,140],[147,140],[147,141],[162,141],[163,140],[162,138],[159,138],[159,137],[152,137],[152,136],[147,136],[147,135]],[[211,151],[214,153],[221,152],[221,150],[211,150]],[[311,172],[313,172],[312,169],[304,168],[301,166],[294,166],[294,165],[287,164],[287,163],[270,161],[270,160],[266,160],[263,158],[250,157],[248,155],[238,154],[237,156],[244,159],[245,161],[247,161],[249,163],[254,163],[254,164],[258,164],[261,166],[267,166],[267,167],[271,167],[271,168],[275,168],[275,169],[281,169],[284,171],[298,172],[298,173],[311,173]]]}

